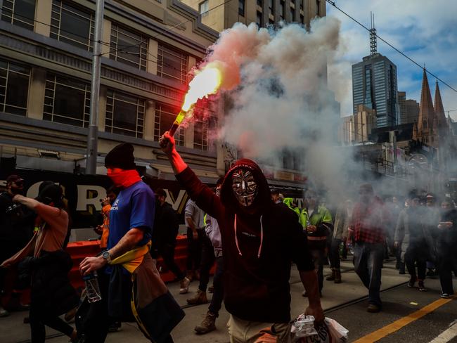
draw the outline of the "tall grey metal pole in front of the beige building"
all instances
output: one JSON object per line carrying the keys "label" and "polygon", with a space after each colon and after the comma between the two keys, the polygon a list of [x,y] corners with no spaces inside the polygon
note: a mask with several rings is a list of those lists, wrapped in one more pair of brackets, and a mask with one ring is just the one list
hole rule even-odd
{"label": "tall grey metal pole in front of the beige building", "polygon": [[98,102],[100,99],[100,58],[105,0],[96,0],[94,55],[92,56],[91,113],[87,136],[86,174],[96,174],[98,143]]}

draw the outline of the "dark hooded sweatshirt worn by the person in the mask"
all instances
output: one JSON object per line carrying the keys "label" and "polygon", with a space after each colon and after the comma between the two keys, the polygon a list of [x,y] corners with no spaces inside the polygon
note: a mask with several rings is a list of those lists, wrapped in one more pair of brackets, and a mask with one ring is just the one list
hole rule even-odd
{"label": "dark hooded sweatshirt worn by the person in the mask", "polygon": [[[257,195],[250,206],[254,214],[243,212],[233,195],[231,176],[241,168],[252,171],[257,181]],[[314,269],[297,214],[273,203],[264,174],[251,160],[239,160],[228,171],[220,198],[190,168],[176,179],[198,207],[219,223],[227,311],[245,321],[288,323],[291,262],[299,271]]]}

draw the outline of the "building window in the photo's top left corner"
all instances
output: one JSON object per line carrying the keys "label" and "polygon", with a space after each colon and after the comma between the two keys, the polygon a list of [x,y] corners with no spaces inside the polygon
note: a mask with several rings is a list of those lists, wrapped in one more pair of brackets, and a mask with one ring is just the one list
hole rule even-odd
{"label": "building window in the photo's top left corner", "polygon": [[33,31],[35,0],[3,0],[1,20]]}

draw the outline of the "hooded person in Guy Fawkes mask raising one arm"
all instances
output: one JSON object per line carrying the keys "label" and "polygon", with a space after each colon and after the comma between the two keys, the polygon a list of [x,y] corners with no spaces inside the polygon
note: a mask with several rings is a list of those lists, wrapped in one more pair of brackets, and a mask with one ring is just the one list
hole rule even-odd
{"label": "hooded person in Guy Fawkes mask raising one arm", "polygon": [[231,342],[255,342],[273,335],[290,339],[290,265],[294,261],[309,295],[307,314],[323,320],[314,264],[297,214],[275,205],[264,174],[252,160],[227,172],[221,197],[205,186],[165,133],[160,145],[176,179],[198,207],[219,224],[224,254],[224,303],[231,314]]}

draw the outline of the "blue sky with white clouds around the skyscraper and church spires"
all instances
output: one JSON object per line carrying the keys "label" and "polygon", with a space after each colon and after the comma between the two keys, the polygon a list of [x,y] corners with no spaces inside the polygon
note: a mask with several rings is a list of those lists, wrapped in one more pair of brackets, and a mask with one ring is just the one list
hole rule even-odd
{"label": "blue sky with white clouds around the skyscraper and church spires", "polygon": [[[424,65],[447,84],[457,89],[457,0],[337,0],[336,5],[359,22],[370,27],[370,12],[375,14],[378,35]],[[338,77],[345,91],[337,92],[342,116],[352,114],[350,65],[370,53],[369,33],[327,3],[327,15],[341,21],[341,48]],[[406,98],[420,101],[422,70],[378,39],[378,52],[397,65],[398,89]],[[331,75],[331,74],[330,74]],[[432,98],[435,78],[428,76]],[[331,82],[332,77],[329,77]],[[457,120],[457,92],[439,83],[444,110]],[[447,112],[446,112],[447,116]]]}

